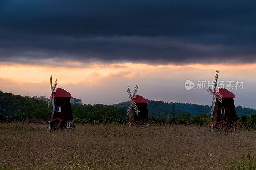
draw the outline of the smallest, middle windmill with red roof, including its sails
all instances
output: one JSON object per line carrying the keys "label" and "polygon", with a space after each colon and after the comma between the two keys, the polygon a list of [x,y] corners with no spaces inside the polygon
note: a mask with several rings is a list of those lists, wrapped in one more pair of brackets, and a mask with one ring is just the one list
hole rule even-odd
{"label": "smallest, middle windmill with red roof, including its sails", "polygon": [[148,118],[148,107],[147,107],[148,100],[143,98],[142,96],[135,95],[138,88],[139,88],[139,86],[137,84],[133,93],[132,93],[132,95],[131,95],[129,87],[127,89],[129,98],[131,100],[130,104],[129,104],[129,107],[127,109],[127,115],[130,114],[130,111],[131,111],[131,108],[132,108],[132,112],[129,116],[129,123],[130,124],[147,123],[148,120],[149,120],[149,118]]}

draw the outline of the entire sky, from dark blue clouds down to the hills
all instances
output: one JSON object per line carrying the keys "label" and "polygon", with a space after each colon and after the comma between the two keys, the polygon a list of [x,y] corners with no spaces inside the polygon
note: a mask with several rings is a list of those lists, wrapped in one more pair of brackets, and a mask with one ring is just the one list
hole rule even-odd
{"label": "entire sky, from dark blue clouds down to the hills", "polygon": [[230,89],[235,105],[256,108],[255,8],[246,0],[0,0],[0,89],[49,97],[52,75],[83,104],[128,101],[127,87],[138,84],[149,100],[211,105],[197,85],[219,70],[220,81],[244,82]]}

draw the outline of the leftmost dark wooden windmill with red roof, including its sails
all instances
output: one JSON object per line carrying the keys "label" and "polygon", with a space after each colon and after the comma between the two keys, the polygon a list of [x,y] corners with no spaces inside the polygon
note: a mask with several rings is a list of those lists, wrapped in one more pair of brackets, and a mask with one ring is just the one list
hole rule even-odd
{"label": "leftmost dark wooden windmill with red roof, including its sails", "polygon": [[64,89],[55,88],[57,79],[52,87],[52,76],[50,78],[51,96],[48,101],[48,108],[52,102],[52,116],[48,121],[47,130],[72,129],[75,128],[70,104],[71,94]]}

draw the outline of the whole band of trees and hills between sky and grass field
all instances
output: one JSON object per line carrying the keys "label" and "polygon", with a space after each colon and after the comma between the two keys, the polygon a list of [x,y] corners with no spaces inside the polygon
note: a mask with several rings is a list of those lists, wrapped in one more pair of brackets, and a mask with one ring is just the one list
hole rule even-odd
{"label": "whole band of trees and hills between sky and grass field", "polygon": [[[78,124],[127,124],[126,114],[129,102],[114,105],[85,105],[71,104],[73,121]],[[173,107],[174,105],[174,107]],[[0,121],[10,122],[24,118],[49,120],[52,104],[47,108],[47,101],[22,97],[11,93],[0,92]],[[212,121],[209,115],[211,107],[188,103],[166,103],[163,101],[148,100],[150,123],[153,124],[196,124],[209,125]],[[12,115],[11,115],[12,113]],[[240,126],[256,129],[256,110],[236,107]]]}

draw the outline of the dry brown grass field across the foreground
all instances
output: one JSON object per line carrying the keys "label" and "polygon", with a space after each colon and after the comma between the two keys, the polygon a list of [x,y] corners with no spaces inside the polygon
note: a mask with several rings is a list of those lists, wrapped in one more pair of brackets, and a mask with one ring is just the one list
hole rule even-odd
{"label": "dry brown grass field across the foreground", "polygon": [[205,126],[0,123],[0,169],[256,169],[256,131]]}

